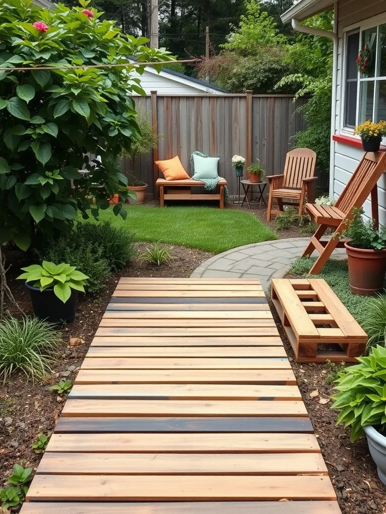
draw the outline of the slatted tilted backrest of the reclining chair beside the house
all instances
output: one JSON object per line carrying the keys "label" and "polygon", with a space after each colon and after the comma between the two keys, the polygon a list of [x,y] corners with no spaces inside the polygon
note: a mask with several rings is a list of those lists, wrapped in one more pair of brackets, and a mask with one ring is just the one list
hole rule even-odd
{"label": "slatted tilted backrest of the reclining chair beside the house", "polygon": [[354,207],[363,206],[367,196],[386,170],[386,152],[367,152],[360,161],[346,187],[339,196],[335,207],[349,214]]}

